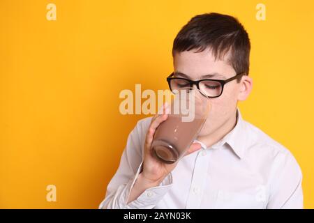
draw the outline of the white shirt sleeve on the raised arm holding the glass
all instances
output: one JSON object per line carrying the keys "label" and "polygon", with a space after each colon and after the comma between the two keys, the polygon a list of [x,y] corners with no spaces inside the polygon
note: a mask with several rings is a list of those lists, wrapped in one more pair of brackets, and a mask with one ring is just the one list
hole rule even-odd
{"label": "white shirt sleeve on the raised arm holding the glass", "polygon": [[157,187],[151,187],[140,194],[137,199],[127,203],[130,192],[138,175],[142,171],[144,155],[144,137],[146,128],[139,121],[128,135],[128,141],[122,153],[116,174],[107,185],[105,199],[99,208],[103,209],[151,209],[163,198],[172,187],[172,174],[168,174]]}

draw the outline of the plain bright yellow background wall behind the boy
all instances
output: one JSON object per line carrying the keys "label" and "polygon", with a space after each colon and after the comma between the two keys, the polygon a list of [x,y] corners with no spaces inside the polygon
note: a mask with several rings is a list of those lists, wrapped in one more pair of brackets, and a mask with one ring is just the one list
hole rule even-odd
{"label": "plain bright yellow background wall behind the boy", "polygon": [[[1,0],[0,208],[98,208],[144,117],[119,113],[120,91],[167,89],[174,37],[208,12],[246,27],[254,88],[241,112],[292,151],[314,208],[313,10],[304,0]],[[50,184],[57,202],[46,201]]]}

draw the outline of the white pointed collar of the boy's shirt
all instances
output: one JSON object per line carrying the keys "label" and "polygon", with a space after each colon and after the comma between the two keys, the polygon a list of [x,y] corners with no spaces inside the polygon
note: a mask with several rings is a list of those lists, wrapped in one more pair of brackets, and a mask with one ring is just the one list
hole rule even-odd
{"label": "white pointed collar of the boy's shirt", "polygon": [[[207,146],[202,143],[202,141],[198,141],[195,139],[195,142],[201,144],[203,149],[206,149]],[[212,149],[221,148],[223,145],[227,144],[232,148],[234,153],[241,159],[244,155],[246,138],[244,134],[244,120],[242,119],[241,112],[239,108],[237,109],[237,123],[234,128],[223,137],[216,144],[211,146]]]}

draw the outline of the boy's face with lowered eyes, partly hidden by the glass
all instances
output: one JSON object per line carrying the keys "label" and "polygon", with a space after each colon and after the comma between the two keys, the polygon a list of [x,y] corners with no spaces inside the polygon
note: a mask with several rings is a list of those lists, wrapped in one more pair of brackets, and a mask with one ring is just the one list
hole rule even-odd
{"label": "boy's face with lowered eyes, partly hidden by the glass", "polygon": [[[203,52],[195,53],[193,50],[176,53],[174,55],[174,72],[181,72],[187,75],[188,79],[198,80],[206,79],[203,75],[215,74],[210,79],[228,79],[236,75],[234,68],[227,62],[228,54],[221,61],[215,61],[214,55],[210,49]],[[183,77],[176,75],[176,77]],[[207,79],[209,79],[207,77]],[[207,121],[199,134],[199,137],[221,132],[221,129],[234,121],[237,111],[237,101],[246,98],[243,92],[246,86],[244,79],[250,79],[243,76],[241,82],[237,83],[237,79],[225,84],[223,93],[218,98],[210,98],[211,110]],[[195,87],[195,86],[193,86]]]}

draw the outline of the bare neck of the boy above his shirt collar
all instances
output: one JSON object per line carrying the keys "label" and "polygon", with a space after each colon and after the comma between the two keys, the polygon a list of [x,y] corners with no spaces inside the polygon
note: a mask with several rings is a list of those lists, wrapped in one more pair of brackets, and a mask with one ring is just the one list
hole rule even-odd
{"label": "bare neck of the boy above his shirt collar", "polygon": [[204,135],[202,137],[197,137],[197,140],[202,141],[207,148],[213,146],[218,141],[223,139],[226,134],[233,130],[234,126],[237,124],[237,111],[230,117],[223,125],[211,134]]}

